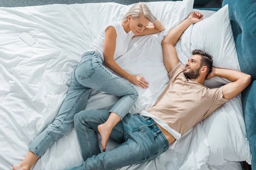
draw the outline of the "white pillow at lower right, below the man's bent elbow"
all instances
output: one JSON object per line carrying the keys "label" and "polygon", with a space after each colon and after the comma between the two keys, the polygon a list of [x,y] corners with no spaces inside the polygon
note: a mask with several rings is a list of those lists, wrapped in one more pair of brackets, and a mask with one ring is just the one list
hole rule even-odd
{"label": "white pillow at lower right, below the man's bent elbow", "polygon": [[241,94],[200,123],[210,147],[207,164],[220,165],[227,161],[247,161],[251,164]]}

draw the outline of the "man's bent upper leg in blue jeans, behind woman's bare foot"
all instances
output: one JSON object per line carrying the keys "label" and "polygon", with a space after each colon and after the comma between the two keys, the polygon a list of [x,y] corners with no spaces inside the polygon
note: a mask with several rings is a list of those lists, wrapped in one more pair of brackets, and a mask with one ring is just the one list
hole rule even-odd
{"label": "man's bent upper leg in blue jeans, behind woman's bare foot", "polygon": [[[81,111],[75,115],[75,128],[84,161],[100,153],[96,133],[99,133],[98,126],[105,123],[108,117],[109,111],[106,110]],[[124,142],[121,122],[118,122],[113,128],[110,139],[119,143]]]}

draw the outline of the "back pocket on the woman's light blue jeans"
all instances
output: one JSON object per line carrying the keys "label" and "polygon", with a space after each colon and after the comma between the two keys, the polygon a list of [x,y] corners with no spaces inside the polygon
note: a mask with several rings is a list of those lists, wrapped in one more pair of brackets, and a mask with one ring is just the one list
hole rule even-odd
{"label": "back pocket on the woman's light blue jeans", "polygon": [[93,73],[95,72],[95,70],[93,68],[92,58],[81,62],[77,66],[76,70],[78,71],[79,79],[88,79],[88,78],[90,78],[93,75]]}

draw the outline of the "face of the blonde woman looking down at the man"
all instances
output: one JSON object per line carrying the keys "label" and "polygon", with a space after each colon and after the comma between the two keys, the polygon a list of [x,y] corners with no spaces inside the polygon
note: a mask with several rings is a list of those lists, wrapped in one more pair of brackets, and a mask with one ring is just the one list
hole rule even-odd
{"label": "face of the blonde woman looking down at the man", "polygon": [[140,35],[149,23],[149,20],[145,17],[133,18],[129,15],[128,20],[130,21],[130,28],[134,35]]}

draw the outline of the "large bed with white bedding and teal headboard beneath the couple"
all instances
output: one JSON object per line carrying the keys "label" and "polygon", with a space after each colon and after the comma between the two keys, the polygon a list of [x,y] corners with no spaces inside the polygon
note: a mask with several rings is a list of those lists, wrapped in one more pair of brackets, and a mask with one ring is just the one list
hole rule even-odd
{"label": "large bed with white bedding and teal headboard beneath the couple", "polygon": [[[193,3],[193,0],[147,3],[166,30],[134,37],[127,53],[116,59],[126,71],[142,75],[150,83],[148,89],[135,87],[140,97],[131,113],[150,107],[167,85],[161,40],[193,11]],[[217,12],[202,10],[204,22],[190,26],[175,46],[180,62],[186,62],[192,49],[201,48],[214,54],[214,65],[243,71],[255,80],[255,66],[251,63],[256,63],[253,48],[256,40],[247,37],[253,36],[255,29],[253,32],[253,29],[243,27],[256,25],[253,11],[256,3],[250,3],[241,5],[237,1],[224,0],[223,8]],[[237,15],[249,6],[248,14],[254,16],[250,17],[251,26],[244,22],[246,15]],[[24,158],[32,140],[58,113],[70,84],[71,72],[81,54],[87,51],[102,26],[121,20],[130,7],[117,3],[87,3],[0,8],[1,170],[11,169]],[[18,35],[22,31],[36,40],[34,45],[20,40]],[[213,88],[228,82],[215,77],[205,85]],[[255,84],[252,82],[241,95],[192,127],[157,159],[120,170],[241,170],[241,161],[247,161],[255,169]],[[84,109],[108,110],[117,100],[116,96],[93,91]],[[107,150],[116,145],[110,140]],[[53,144],[32,169],[66,170],[82,161],[73,128]]]}

